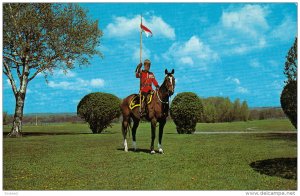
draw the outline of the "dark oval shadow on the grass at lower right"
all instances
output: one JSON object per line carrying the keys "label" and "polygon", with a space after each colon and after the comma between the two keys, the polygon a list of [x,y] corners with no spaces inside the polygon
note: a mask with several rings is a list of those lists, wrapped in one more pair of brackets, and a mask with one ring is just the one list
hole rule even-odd
{"label": "dark oval shadow on the grass at lower right", "polygon": [[275,158],[250,163],[257,172],[297,180],[297,158]]}

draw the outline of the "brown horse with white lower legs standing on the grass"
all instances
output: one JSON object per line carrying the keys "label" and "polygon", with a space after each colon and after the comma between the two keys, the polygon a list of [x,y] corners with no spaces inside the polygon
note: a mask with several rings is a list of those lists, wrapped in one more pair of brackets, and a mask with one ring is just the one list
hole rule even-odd
{"label": "brown horse with white lower legs standing on the grass", "polygon": [[[156,123],[159,122],[159,139],[158,139],[158,152],[163,153],[162,149],[162,135],[164,126],[166,124],[166,119],[169,113],[169,98],[174,94],[175,89],[175,78],[174,78],[174,69],[169,73],[168,70],[165,70],[165,79],[161,87],[156,90],[153,94],[152,101],[146,106],[147,115],[145,116],[146,120],[151,122],[151,146],[150,153],[155,153],[154,151],[154,140],[156,132]],[[130,109],[131,101],[137,94],[132,94],[126,97],[121,103],[120,107],[122,110],[123,121],[122,121],[122,133],[124,139],[124,151],[128,151],[127,146],[127,131],[131,128],[131,120],[133,120],[132,130],[132,144],[134,150],[136,150],[136,130],[139,126],[141,120],[139,107],[134,107]]]}

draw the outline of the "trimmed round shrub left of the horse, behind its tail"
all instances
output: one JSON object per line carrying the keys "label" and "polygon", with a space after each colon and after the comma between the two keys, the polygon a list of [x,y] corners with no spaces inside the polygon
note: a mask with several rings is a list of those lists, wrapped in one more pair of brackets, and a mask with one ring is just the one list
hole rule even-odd
{"label": "trimmed round shrub left of the horse, behind its tail", "polygon": [[77,106],[77,115],[89,123],[93,133],[101,133],[120,114],[120,99],[108,93],[90,93]]}

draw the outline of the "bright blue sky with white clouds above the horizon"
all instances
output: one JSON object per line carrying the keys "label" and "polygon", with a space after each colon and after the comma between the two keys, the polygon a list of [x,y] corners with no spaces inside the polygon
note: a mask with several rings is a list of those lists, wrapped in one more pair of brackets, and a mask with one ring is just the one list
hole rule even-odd
{"label": "bright blue sky with white clouds above the horizon", "polygon": [[[175,69],[175,95],[239,98],[250,107],[280,106],[285,56],[297,35],[295,3],[87,3],[80,4],[104,35],[91,65],[56,70],[46,83],[37,76],[28,85],[24,113],[76,112],[91,92],[120,98],[137,93],[139,24],[143,60],[161,84],[164,70]],[[3,111],[14,112],[15,99],[3,75]]]}

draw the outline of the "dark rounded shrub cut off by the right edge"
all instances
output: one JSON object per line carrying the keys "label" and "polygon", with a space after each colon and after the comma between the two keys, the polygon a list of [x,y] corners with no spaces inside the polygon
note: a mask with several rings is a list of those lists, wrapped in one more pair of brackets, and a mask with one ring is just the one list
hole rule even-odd
{"label": "dark rounded shrub cut off by the right edge", "polygon": [[290,81],[282,90],[280,103],[284,113],[297,128],[297,81]]}

